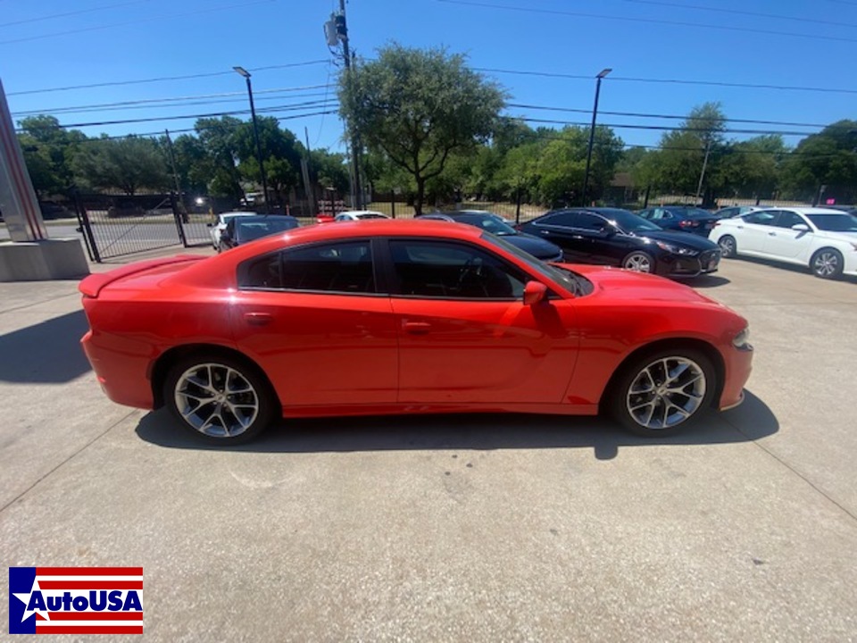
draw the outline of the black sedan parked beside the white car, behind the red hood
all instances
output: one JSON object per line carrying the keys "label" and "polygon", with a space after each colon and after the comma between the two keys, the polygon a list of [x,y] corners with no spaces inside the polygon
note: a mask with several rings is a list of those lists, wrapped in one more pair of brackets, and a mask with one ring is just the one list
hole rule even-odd
{"label": "black sedan parked beside the white car, behind the red hood", "polygon": [[553,210],[520,230],[562,247],[570,263],[602,263],[668,277],[695,277],[720,264],[720,248],[713,241],[661,230],[619,208]]}

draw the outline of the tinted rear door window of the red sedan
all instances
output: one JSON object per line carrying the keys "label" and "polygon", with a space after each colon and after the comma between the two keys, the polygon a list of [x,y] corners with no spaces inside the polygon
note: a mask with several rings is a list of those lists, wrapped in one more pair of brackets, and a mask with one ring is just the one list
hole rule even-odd
{"label": "tinted rear door window of the red sedan", "polygon": [[238,269],[241,288],[374,293],[369,241],[305,246],[264,255]]}

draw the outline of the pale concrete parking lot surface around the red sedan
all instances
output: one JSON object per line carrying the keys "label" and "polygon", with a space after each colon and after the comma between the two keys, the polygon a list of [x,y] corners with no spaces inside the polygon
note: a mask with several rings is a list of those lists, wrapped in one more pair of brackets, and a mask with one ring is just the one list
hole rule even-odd
{"label": "pale concrete parking lot surface around the red sedan", "polygon": [[156,641],[857,639],[857,281],[691,283],[756,348],[696,430],[334,419],[227,450],[104,397],[76,282],[0,284],[4,563],[142,565]]}

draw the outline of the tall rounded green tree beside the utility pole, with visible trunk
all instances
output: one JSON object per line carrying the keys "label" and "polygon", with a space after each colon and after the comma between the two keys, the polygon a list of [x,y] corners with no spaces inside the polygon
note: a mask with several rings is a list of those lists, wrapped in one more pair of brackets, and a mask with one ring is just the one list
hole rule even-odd
{"label": "tall rounded green tree beside the utility pole, with visible trunk", "polygon": [[500,88],[445,49],[389,45],[339,82],[350,133],[413,177],[416,213],[426,182],[444,171],[451,154],[487,140],[504,104]]}

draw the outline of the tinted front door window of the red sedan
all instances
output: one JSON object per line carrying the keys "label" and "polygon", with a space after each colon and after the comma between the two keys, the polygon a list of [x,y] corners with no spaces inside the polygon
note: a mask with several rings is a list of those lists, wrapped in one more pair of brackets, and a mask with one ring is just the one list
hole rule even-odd
{"label": "tinted front door window of the red sedan", "polygon": [[516,299],[525,275],[499,257],[466,244],[420,239],[390,241],[396,291],[446,299]]}

